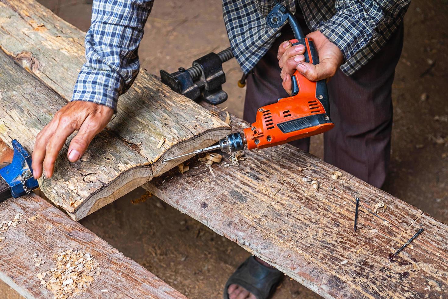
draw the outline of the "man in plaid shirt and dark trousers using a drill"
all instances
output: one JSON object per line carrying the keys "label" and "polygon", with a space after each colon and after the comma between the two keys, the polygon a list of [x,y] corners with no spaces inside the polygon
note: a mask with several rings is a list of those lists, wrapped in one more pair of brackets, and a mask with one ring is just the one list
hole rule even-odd
{"label": "man in plaid shirt and dark trousers using a drill", "polygon": [[[250,73],[243,118],[253,122],[257,108],[287,96],[296,69],[314,81],[334,76],[328,91],[336,126],[324,134],[324,159],[382,186],[390,157],[392,81],[410,0],[281,1],[314,39],[319,65],[305,63],[303,46],[288,41],[293,39],[289,25],[281,30],[267,26],[265,16],[275,2],[223,0],[232,51],[242,70]],[[39,178],[43,169],[47,178],[52,176],[56,157],[73,131],[78,133],[69,145],[71,162],[82,156],[108,124],[119,95],[138,74],[138,44],[152,4],[152,0],[94,1],[86,35],[87,61],[72,101],[37,136],[34,178]],[[294,144],[307,151],[309,139]],[[282,275],[250,257],[229,278],[224,298],[267,298]]]}

